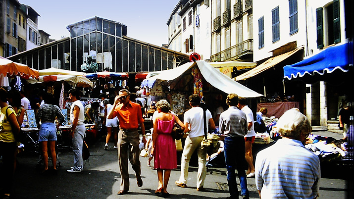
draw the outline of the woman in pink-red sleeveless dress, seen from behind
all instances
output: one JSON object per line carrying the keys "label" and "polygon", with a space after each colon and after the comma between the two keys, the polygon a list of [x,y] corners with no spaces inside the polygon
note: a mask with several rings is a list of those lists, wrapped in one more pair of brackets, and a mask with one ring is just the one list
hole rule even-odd
{"label": "woman in pink-red sleeveless dress, seen from behind", "polygon": [[[152,121],[152,153],[154,168],[157,169],[158,187],[155,194],[169,196],[167,192],[171,170],[177,168],[177,152],[175,140],[171,136],[173,125],[176,122],[182,129],[184,125],[178,117],[169,111],[170,104],[166,99],[156,103],[158,114]],[[163,171],[164,174],[163,174]]]}

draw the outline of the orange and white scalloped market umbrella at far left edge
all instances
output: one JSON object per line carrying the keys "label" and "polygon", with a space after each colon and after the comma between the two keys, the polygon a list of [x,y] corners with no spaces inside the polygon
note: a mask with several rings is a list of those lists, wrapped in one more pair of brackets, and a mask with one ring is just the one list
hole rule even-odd
{"label": "orange and white scalloped market umbrella at far left edge", "polygon": [[0,56],[0,75],[6,76],[20,76],[23,79],[30,77],[38,79],[39,73],[37,70],[28,67],[25,64],[13,62]]}

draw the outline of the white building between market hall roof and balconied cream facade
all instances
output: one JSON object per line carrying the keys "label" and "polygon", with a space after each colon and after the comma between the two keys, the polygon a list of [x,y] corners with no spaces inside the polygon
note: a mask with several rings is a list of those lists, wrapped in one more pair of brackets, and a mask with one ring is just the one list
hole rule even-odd
{"label": "white building between market hall roof and balconied cream facade", "polygon": [[167,21],[168,48],[210,60],[210,10],[209,0],[180,0]]}

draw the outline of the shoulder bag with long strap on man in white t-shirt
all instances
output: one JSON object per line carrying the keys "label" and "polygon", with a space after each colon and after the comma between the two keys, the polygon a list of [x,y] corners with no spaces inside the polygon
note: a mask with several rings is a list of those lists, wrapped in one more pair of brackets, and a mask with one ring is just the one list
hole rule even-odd
{"label": "shoulder bag with long strap on man in white t-shirt", "polygon": [[220,148],[219,136],[215,134],[206,135],[206,113],[203,108],[203,121],[204,121],[204,140],[201,142],[202,150],[206,150],[206,153],[211,155],[216,153]]}

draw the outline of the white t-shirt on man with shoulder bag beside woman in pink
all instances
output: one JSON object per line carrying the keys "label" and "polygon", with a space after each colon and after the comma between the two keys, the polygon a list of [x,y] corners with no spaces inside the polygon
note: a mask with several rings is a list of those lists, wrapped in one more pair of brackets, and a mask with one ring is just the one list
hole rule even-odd
{"label": "white t-shirt on man with shoulder bag beside woman in pink", "polygon": [[[188,135],[190,138],[204,136],[203,113],[203,109],[199,106],[193,107],[184,113],[184,123],[187,122],[190,126],[190,131]],[[206,131],[208,131],[209,119],[212,118],[209,110],[205,111],[205,116]]]}

